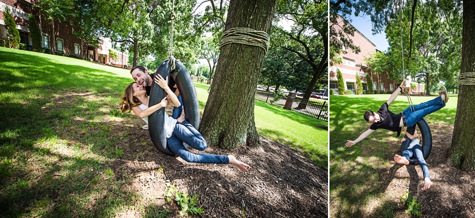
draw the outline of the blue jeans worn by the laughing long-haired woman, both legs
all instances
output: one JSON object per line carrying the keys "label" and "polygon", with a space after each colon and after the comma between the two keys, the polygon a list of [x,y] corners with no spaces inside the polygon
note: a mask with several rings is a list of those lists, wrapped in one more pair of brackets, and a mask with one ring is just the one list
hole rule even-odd
{"label": "blue jeans worn by the laughing long-haired woman, both legs", "polygon": [[170,136],[170,138],[166,139],[166,142],[168,142],[168,147],[170,150],[186,162],[201,164],[229,163],[229,158],[227,156],[195,154],[188,151],[183,146],[183,142],[199,151],[204,151],[207,145],[203,136],[186,120],[182,123],[176,122],[175,128],[173,129],[173,134]]}

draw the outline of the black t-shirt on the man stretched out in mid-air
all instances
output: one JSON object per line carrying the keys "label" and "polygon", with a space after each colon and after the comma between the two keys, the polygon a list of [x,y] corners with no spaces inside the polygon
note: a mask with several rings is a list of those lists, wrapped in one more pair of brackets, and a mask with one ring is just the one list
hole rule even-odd
{"label": "black t-shirt on the man stretched out in mid-air", "polygon": [[399,122],[401,120],[402,114],[395,114],[392,113],[389,109],[386,102],[381,105],[379,110],[376,112],[379,114],[380,120],[377,123],[371,124],[369,129],[377,130],[377,129],[387,129],[392,132],[397,132],[397,136],[401,134],[401,127],[399,127]]}

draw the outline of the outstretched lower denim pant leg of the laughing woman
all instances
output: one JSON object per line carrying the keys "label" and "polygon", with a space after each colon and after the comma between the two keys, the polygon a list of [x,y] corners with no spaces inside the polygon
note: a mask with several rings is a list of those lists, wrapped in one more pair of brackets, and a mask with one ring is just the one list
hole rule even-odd
{"label": "outstretched lower denim pant leg of the laughing woman", "polygon": [[228,164],[229,158],[223,155],[210,155],[210,154],[195,154],[188,151],[183,142],[179,140],[174,134],[170,138],[166,139],[170,150],[178,155],[181,159],[190,163],[200,164]]}

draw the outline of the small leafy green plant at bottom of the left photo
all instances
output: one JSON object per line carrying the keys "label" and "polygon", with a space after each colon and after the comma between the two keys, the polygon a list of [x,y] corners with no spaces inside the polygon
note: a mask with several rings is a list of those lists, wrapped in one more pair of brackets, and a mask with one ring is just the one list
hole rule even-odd
{"label": "small leafy green plant at bottom of the left photo", "polygon": [[175,202],[180,206],[181,211],[180,211],[180,216],[188,216],[188,213],[191,214],[202,214],[204,213],[203,208],[197,208],[194,206],[194,204],[198,203],[196,200],[198,198],[198,195],[194,195],[193,197],[189,197],[188,193],[183,193],[181,194],[178,190],[176,190],[176,185],[170,184],[170,183],[165,183],[166,189],[165,189],[165,200],[167,202],[171,201],[171,198],[174,197]]}

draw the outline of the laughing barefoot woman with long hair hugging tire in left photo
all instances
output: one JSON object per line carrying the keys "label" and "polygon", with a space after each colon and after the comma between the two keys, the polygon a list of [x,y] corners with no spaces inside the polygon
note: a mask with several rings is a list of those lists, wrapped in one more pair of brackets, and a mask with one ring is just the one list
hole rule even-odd
{"label": "laughing barefoot woman with long hair hugging tire in left photo", "polygon": [[[166,107],[168,104],[168,98],[170,100],[169,105],[179,107],[180,103],[176,98],[176,95],[168,87],[168,77],[166,80],[160,75],[155,77],[155,83],[165,90],[168,97],[163,98],[160,103],[156,105],[148,105],[148,97],[146,96],[146,90],[143,86],[136,82],[130,83],[124,90],[121,99],[120,110],[122,112],[132,110],[135,115],[142,118],[148,124],[148,115],[152,114],[156,110]],[[181,114],[178,119],[173,119],[164,113],[164,125],[166,142],[170,150],[178,155],[180,158],[191,163],[202,164],[228,164],[231,163],[238,167],[242,172],[247,172],[249,165],[238,161],[234,156],[223,155],[210,155],[210,154],[195,154],[188,151],[183,142],[191,146],[196,150],[203,151],[206,148],[206,141],[203,136],[193,127],[188,121],[186,121]]]}

